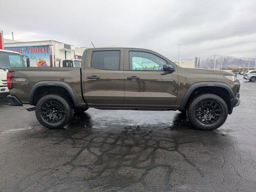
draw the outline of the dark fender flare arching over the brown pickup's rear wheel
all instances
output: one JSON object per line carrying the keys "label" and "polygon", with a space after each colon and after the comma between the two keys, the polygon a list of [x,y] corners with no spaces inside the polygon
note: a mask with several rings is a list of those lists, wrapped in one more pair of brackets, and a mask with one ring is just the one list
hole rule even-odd
{"label": "dark fender flare arching over the brown pickup's rear wheel", "polygon": [[79,106],[79,102],[77,100],[75,92],[73,91],[73,89],[71,88],[71,86],[68,83],[63,82],[63,81],[40,81],[40,82],[37,82],[36,84],[34,84],[32,90],[30,92],[30,97],[29,97],[30,105],[33,105],[33,98],[34,98],[34,93],[36,92],[36,89],[39,87],[43,87],[43,86],[58,86],[58,87],[65,88],[71,95],[74,105],[76,107]]}

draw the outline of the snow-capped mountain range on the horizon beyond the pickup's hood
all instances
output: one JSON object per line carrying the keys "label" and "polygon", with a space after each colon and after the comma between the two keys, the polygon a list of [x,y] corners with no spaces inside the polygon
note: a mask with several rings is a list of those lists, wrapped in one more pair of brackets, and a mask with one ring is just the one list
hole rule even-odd
{"label": "snow-capped mountain range on the horizon beyond the pickup's hood", "polygon": [[214,56],[216,55],[216,66],[221,64],[222,68],[235,68],[245,66],[248,67],[248,62],[250,62],[250,66],[255,65],[254,58],[245,58],[245,57],[235,57],[235,56],[226,56],[220,54],[213,54],[210,56],[205,56],[200,58],[200,66],[201,67],[214,67]]}

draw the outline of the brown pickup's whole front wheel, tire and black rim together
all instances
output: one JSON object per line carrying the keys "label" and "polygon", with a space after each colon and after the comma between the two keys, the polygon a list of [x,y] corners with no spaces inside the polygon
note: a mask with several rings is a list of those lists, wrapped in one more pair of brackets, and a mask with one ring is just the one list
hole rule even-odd
{"label": "brown pickup's whole front wheel, tire and black rim together", "polygon": [[215,94],[200,94],[191,100],[187,114],[190,122],[199,130],[215,130],[228,117],[226,102]]}

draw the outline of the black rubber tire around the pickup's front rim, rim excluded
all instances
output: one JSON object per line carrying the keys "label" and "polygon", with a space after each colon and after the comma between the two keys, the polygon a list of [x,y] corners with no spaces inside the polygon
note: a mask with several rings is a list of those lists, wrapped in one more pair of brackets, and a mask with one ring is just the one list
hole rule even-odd
{"label": "black rubber tire around the pickup's front rim, rim excluded", "polygon": [[[196,110],[198,106],[205,101],[213,101],[220,106],[221,115],[216,122],[213,124],[203,124],[200,122],[196,116]],[[228,117],[228,106],[226,102],[219,96],[215,94],[200,94],[193,99],[191,99],[188,108],[187,115],[190,122],[199,130],[215,130],[222,126]]]}

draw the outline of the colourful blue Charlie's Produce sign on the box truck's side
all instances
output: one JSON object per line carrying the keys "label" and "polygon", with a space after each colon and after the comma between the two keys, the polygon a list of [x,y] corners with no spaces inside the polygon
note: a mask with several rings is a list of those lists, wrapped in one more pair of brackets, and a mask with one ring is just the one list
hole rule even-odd
{"label": "colourful blue Charlie's Produce sign on the box truck's side", "polygon": [[22,55],[28,56],[31,67],[49,67],[50,66],[50,46],[48,45],[5,47],[4,49],[19,52]]}

